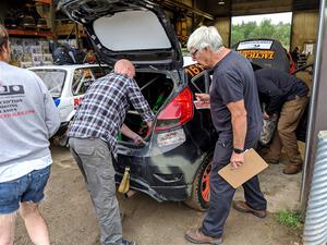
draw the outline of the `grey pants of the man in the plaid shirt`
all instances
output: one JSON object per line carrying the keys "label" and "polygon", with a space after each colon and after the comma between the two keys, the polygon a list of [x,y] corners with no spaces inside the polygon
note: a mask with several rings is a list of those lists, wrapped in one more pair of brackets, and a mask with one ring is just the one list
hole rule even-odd
{"label": "grey pants of the man in the plaid shirt", "polygon": [[87,184],[101,230],[101,245],[121,245],[122,228],[116,198],[114,169],[107,143],[101,139],[69,139]]}

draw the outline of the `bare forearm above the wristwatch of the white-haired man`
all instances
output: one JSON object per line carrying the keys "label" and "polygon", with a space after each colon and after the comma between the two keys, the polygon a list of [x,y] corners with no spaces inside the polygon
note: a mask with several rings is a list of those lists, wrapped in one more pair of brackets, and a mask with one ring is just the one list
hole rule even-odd
{"label": "bare forearm above the wristwatch of the white-haired man", "polygon": [[233,147],[244,149],[247,131],[246,113],[232,115],[231,123],[233,130]]}

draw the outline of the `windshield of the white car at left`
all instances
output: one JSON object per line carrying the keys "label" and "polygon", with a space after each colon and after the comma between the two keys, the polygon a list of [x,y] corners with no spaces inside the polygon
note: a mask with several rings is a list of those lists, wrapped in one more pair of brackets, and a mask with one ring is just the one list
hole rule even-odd
{"label": "windshield of the white car at left", "polygon": [[39,69],[32,71],[44,81],[52,97],[60,97],[65,78],[64,70]]}

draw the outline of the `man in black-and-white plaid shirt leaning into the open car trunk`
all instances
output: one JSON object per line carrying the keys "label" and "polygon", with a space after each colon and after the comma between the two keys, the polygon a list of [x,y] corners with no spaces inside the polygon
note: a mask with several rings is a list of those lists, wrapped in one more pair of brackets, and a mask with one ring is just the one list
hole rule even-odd
{"label": "man in black-and-white plaid shirt leaning into the open car trunk", "polygon": [[148,127],[154,120],[154,113],[133,79],[134,76],[135,69],[130,61],[117,61],[114,72],[89,86],[69,131],[71,152],[84,175],[100,223],[101,245],[135,244],[122,238],[111,160],[111,154],[114,157],[117,155],[120,130],[133,138],[135,144],[143,142],[123,125],[129,101]]}

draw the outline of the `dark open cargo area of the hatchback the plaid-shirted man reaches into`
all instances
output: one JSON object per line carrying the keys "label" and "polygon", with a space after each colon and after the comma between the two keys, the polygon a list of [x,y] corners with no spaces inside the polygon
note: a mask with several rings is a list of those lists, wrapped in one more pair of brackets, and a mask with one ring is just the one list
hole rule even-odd
{"label": "dark open cargo area of the hatchback the plaid-shirted man reaches into", "polygon": [[[173,81],[167,76],[167,74],[150,72],[136,73],[135,79],[153,112],[157,114],[173,90]],[[148,138],[148,128],[146,123],[143,122],[140,113],[133,108],[132,105],[126,114],[124,123],[143,138]],[[132,143],[130,138],[122,134],[119,135],[118,139],[121,142]]]}

